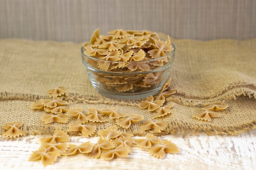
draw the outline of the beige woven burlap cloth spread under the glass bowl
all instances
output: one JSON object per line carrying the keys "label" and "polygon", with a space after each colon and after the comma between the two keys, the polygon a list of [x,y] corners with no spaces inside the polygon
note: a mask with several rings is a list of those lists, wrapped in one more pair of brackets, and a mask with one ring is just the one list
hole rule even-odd
{"label": "beige woven burlap cloth spread under the glass bowl", "polygon": [[[167,101],[175,103],[173,114],[157,119],[168,121],[166,130],[151,132],[235,135],[255,128],[256,39],[172,42],[176,53],[170,89],[176,93]],[[11,121],[22,121],[22,130],[27,134],[52,133],[56,127],[66,130],[69,124],[77,122],[75,118],[67,124],[43,124],[41,116],[45,113],[30,108],[33,101],[47,98],[49,89],[65,86],[69,89],[66,99],[70,108],[117,108],[128,115],[141,114],[144,120],[132,124],[127,131],[134,135],[148,133],[139,127],[144,121],[153,120],[153,114],[139,108],[140,101],[104,97],[92,87],[81,61],[81,44],[0,40],[0,128]],[[211,121],[193,118],[210,104],[227,104],[229,108]],[[116,126],[112,120],[88,124],[98,130]]]}

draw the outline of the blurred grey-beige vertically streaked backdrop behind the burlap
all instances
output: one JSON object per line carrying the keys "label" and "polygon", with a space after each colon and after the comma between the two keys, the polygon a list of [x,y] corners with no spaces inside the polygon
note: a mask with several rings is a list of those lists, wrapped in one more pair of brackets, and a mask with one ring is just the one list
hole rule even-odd
{"label": "blurred grey-beige vertically streaked backdrop behind the burlap", "polygon": [[0,0],[0,38],[84,42],[97,28],[256,38],[256,0]]}

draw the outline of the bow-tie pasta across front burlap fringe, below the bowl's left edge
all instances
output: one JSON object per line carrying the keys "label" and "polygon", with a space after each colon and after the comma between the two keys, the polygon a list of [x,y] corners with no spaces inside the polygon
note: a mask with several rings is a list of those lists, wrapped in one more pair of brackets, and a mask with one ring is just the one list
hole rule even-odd
{"label": "bow-tie pasta across front burlap fringe, below the bowl's left edge", "polygon": [[67,131],[70,132],[82,132],[85,137],[93,135],[97,128],[95,126],[88,126],[82,124],[70,124],[70,128]]}

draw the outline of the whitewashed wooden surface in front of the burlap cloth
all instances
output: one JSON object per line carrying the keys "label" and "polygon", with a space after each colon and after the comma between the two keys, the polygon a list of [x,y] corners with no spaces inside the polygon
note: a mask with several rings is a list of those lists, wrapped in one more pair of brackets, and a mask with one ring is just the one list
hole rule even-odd
{"label": "whitewashed wooden surface in front of the burlap cloth", "polygon": [[[147,151],[135,148],[128,158],[112,161],[93,159],[85,155],[63,156],[53,164],[43,167],[40,161],[28,161],[29,156],[40,147],[39,139],[44,136],[25,136],[17,139],[0,137],[0,169],[4,170],[253,170],[256,167],[256,129],[236,136],[165,135],[161,139],[171,140],[180,153],[168,154],[157,159]],[[141,138],[141,137],[135,137]],[[71,137],[74,144],[90,141],[97,143],[99,137]]]}

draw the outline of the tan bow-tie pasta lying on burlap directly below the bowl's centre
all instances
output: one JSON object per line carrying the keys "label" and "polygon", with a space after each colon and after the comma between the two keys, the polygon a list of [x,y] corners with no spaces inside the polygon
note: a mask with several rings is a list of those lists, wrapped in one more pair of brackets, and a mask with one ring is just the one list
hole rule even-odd
{"label": "tan bow-tie pasta lying on burlap directly below the bowl's centre", "polygon": [[132,113],[128,118],[116,119],[116,122],[122,128],[127,129],[131,126],[131,124],[135,124],[143,119],[144,117],[142,115]]}

